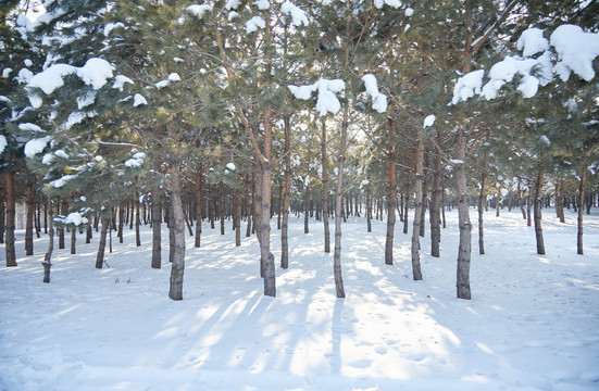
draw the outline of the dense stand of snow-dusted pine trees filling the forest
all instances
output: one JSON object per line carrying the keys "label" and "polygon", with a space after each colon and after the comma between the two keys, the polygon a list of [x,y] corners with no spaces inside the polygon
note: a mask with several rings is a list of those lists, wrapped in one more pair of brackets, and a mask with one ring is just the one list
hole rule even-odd
{"label": "dense stand of snow-dusted pine trees filling the forest", "polygon": [[[227,188],[238,234],[240,211],[252,212],[264,294],[274,297],[270,219],[278,192],[282,267],[289,262],[292,200],[308,205],[321,199],[323,216],[335,216],[334,275],[342,298],[344,200],[363,193],[361,202],[370,205],[385,193],[385,263],[392,264],[396,215],[408,222],[414,194],[412,266],[413,278],[422,279],[425,200],[432,253],[439,256],[444,189],[452,189],[460,216],[457,293],[470,299],[469,195],[532,193],[544,253],[544,186],[556,184],[561,199],[576,177],[581,205],[585,186],[597,186],[596,84],[553,80],[524,99],[519,86],[525,75],[516,75],[491,102],[448,105],[460,75],[516,55],[514,42],[532,25],[546,35],[564,23],[597,28],[587,16],[597,4],[563,3],[46,1],[46,13],[29,22],[25,13],[40,5],[9,1],[0,9],[7,264],[16,264],[11,205],[17,173],[30,197],[37,188],[66,201],[50,222],[75,228],[97,217],[104,243],[115,207],[132,198],[149,205],[152,267],[161,266],[167,198],[170,297],[180,300],[186,222],[190,227],[190,216],[216,213],[207,205],[214,199],[208,187],[219,194]],[[220,197],[224,222],[228,201]],[[581,213],[579,253],[582,222]],[[196,228],[200,245],[200,224]],[[48,278],[50,256],[51,250]],[[99,251],[99,267],[102,257]]]}

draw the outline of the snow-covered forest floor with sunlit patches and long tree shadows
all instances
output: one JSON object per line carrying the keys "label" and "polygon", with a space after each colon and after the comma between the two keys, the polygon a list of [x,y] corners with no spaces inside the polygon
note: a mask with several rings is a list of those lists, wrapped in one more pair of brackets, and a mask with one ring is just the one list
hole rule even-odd
{"label": "snow-covered forest floor with sunlit patches and long tree shadows", "polygon": [[[410,237],[396,228],[395,265],[384,263],[385,223],[344,225],[347,298],[335,298],[333,255],[322,225],[291,218],[289,269],[277,298],[262,295],[255,238],[204,224],[188,237],[184,300],[167,298],[170,265],[150,267],[150,238],[133,231],[96,269],[98,235],[78,254],[54,252],[52,281],[40,261],[4,267],[0,253],[0,389],[21,390],[597,390],[599,213],[585,215],[585,255],[575,215],[545,210],[547,255],[519,211],[489,211],[487,255],[473,231],[472,301],[456,299],[457,212],[441,257],[423,241],[423,281],[411,279]],[[472,210],[475,222],[475,211]],[[245,232],[245,225],[242,225]],[[163,238],[167,238],[166,231]],[[273,252],[279,235],[273,225]]]}

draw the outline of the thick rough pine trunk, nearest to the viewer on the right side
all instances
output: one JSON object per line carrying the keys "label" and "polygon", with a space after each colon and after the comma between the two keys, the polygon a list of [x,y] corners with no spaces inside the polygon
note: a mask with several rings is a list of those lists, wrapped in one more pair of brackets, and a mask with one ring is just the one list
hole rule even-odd
{"label": "thick rough pine trunk, nearest to the viewer on the right side", "polygon": [[461,163],[456,166],[456,181],[458,190],[458,219],[460,226],[460,245],[458,249],[457,291],[458,299],[471,300],[470,291],[470,260],[472,252],[472,225],[470,223],[470,210],[466,185],[466,139],[465,119],[458,124],[458,140],[456,146],[456,159]]}

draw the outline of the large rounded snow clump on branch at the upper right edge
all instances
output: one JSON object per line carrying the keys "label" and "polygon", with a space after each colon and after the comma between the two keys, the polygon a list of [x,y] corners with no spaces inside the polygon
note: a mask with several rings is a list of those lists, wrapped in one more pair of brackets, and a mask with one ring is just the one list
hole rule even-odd
{"label": "large rounded snow clump on branch at the upper right edge", "polygon": [[592,61],[599,55],[599,34],[585,33],[581,27],[563,24],[551,34],[550,42],[559,55],[556,72],[563,81],[574,72],[586,81],[592,80]]}

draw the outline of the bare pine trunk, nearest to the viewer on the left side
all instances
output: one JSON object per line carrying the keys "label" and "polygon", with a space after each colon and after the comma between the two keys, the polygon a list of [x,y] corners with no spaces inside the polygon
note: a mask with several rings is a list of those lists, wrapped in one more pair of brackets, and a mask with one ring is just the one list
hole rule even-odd
{"label": "bare pine trunk, nearest to the viewer on the left side", "polygon": [[182,202],[182,187],[179,180],[179,168],[176,165],[171,167],[170,178],[171,191],[171,229],[173,236],[173,264],[171,266],[171,279],[169,298],[183,300],[183,275],[185,272],[185,217]]}

